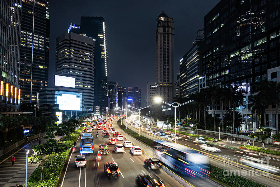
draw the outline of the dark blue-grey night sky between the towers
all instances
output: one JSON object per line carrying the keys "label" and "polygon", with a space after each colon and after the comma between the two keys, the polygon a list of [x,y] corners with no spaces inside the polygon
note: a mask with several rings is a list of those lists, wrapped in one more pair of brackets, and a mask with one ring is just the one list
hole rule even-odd
{"label": "dark blue-grey night sky between the towers", "polygon": [[[219,0],[176,1],[50,1],[50,73],[54,78],[55,39],[67,32],[71,22],[80,24],[80,16],[101,16],[107,29],[109,81],[141,88],[145,105],[147,82],[156,80],[156,19],[164,11],[175,22],[175,70],[191,47],[198,29],[204,27],[204,16]],[[53,81],[50,81],[52,86]]]}

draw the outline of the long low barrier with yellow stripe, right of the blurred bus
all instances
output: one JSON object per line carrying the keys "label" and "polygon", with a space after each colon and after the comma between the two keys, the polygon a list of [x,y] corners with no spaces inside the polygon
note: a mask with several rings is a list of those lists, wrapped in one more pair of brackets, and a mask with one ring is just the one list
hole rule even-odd
{"label": "long low barrier with yellow stripe, right of the blurred bus", "polygon": [[[128,123],[128,124],[129,124],[129,123]],[[129,124],[129,125],[130,125],[130,124]],[[131,125],[130,125],[130,126],[131,126]],[[131,126],[131,127],[133,127],[133,126]],[[136,127],[134,127],[134,128],[136,128]],[[139,130],[138,128],[136,128],[136,129]],[[147,132],[142,131],[142,130],[140,130],[140,131],[141,131],[141,132],[144,132],[144,133],[146,133],[146,134],[149,134],[150,136],[153,136],[153,137],[156,137],[156,138],[159,138],[159,139],[162,139],[162,140],[170,141],[170,140],[167,140],[167,139],[165,139],[165,138],[162,138],[162,137],[153,135],[153,134],[151,134],[151,133],[147,133]],[[178,144],[179,144],[179,143],[178,143]],[[182,145],[182,144],[180,144],[180,145]],[[185,146],[185,145],[182,145],[182,146]],[[238,163],[238,162],[234,162],[234,161],[231,161],[231,160],[227,160],[227,159],[225,159],[225,158],[222,158],[222,157],[219,157],[219,156],[215,156],[215,155],[209,154],[209,153],[207,153],[207,152],[203,152],[203,151],[194,149],[194,148],[189,147],[189,146],[185,146],[185,147],[188,147],[188,148],[193,149],[193,150],[195,150],[195,151],[201,152],[201,153],[203,153],[204,155],[206,155],[206,156],[208,156],[208,157],[210,157],[210,158],[213,158],[213,159],[218,160],[218,161],[222,161],[222,162],[224,162],[224,163],[227,163],[228,165],[236,166],[236,167],[238,167],[238,168],[241,168],[241,169],[244,169],[244,170],[248,170],[248,171],[254,172],[254,173],[258,174],[258,175],[263,175],[263,176],[265,176],[265,177],[268,177],[268,178],[271,178],[271,179],[280,181],[280,176],[278,176],[278,175],[274,175],[274,174],[271,174],[271,173],[268,173],[268,172],[265,172],[265,171],[262,171],[262,170],[258,170],[258,169],[252,168],[252,167],[250,167],[250,166],[246,166],[246,165],[240,164],[240,163]]]}

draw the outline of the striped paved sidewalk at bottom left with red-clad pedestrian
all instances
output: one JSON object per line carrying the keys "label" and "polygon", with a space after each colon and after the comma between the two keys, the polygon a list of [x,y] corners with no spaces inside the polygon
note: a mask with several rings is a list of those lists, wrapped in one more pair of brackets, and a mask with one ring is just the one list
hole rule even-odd
{"label": "striped paved sidewalk at bottom left with red-clad pedestrian", "polygon": [[[26,142],[25,144],[18,146],[16,149],[2,155],[0,157],[0,187],[14,187],[16,184],[25,184],[25,171],[26,171],[26,152],[25,149],[30,149],[28,155],[32,155],[31,146],[39,144],[41,139],[42,143],[46,142],[44,137],[36,140]],[[11,157],[16,158],[14,166],[12,166]],[[28,163],[28,177],[36,169],[40,163],[30,164]]]}

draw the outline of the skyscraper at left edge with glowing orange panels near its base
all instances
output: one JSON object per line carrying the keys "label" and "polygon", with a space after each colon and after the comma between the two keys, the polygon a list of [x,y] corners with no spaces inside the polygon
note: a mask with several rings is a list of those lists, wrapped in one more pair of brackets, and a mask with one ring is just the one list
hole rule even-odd
{"label": "skyscraper at left edge with glowing orange panels near its base", "polygon": [[19,108],[21,0],[1,0],[0,112]]}

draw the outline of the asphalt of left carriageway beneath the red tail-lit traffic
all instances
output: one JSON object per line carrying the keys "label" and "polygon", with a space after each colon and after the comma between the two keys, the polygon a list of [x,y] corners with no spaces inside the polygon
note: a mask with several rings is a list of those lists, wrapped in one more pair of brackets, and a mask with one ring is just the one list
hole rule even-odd
{"label": "asphalt of left carriageway beneath the red tail-lit traffic", "polygon": [[[130,154],[129,148],[125,148],[125,153],[115,153],[113,151],[113,145],[109,145],[110,154],[101,155],[101,160],[99,162],[99,168],[97,170],[94,168],[94,158],[96,157],[97,151],[99,150],[100,143],[107,143],[109,138],[103,138],[99,136],[96,138],[96,132],[100,130],[93,130],[91,133],[94,137],[94,153],[88,154],[86,157],[86,168],[79,167],[75,168],[75,158],[74,156],[79,154],[80,139],[77,141],[76,152],[70,156],[70,160],[66,169],[66,172],[62,173],[60,178],[59,186],[65,187],[86,187],[86,186],[95,186],[95,187],[105,187],[105,186],[114,186],[114,187],[123,187],[123,186],[135,186],[135,176],[140,173],[155,173],[159,176],[165,186],[167,187],[182,187],[179,182],[174,180],[172,177],[167,175],[164,171],[150,171],[144,167],[144,160],[146,157],[144,155],[132,156]],[[125,136],[125,135],[124,135]],[[110,134],[112,137],[112,134]],[[130,139],[128,137],[128,139]],[[125,139],[127,140],[127,139]],[[125,141],[124,140],[124,141]],[[122,144],[123,141],[118,141],[117,143]],[[119,179],[107,179],[104,173],[104,164],[105,162],[115,161],[119,165],[121,171],[121,176]],[[65,176],[64,176],[65,175]],[[64,179],[63,179],[64,176]]]}

